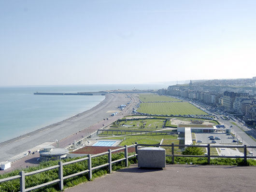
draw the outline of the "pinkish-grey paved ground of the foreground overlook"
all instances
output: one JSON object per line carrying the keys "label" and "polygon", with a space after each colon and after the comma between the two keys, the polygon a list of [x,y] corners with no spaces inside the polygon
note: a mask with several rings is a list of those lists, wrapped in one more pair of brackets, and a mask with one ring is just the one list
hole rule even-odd
{"label": "pinkish-grey paved ground of the foreground overlook", "polygon": [[65,192],[255,192],[255,176],[256,166],[131,165]]}

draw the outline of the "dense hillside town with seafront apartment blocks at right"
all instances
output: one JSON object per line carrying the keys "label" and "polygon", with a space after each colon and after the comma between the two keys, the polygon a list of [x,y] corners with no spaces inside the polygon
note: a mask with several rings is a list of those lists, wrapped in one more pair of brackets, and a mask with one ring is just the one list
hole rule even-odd
{"label": "dense hillside town with seafront apartment blocks at right", "polygon": [[252,79],[190,81],[168,89],[159,95],[176,96],[207,105],[255,128],[256,77]]}

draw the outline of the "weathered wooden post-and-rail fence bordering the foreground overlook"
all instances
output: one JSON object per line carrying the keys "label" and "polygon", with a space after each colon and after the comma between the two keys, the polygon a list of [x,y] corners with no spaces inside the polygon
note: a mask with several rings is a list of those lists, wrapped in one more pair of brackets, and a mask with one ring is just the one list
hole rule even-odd
{"label": "weathered wooden post-and-rail fence bordering the foreground overlook", "polygon": [[[85,157],[85,158],[73,160],[73,161],[70,161],[70,162],[65,162],[65,163],[58,162],[58,165],[46,167],[46,168],[43,168],[43,169],[39,169],[37,171],[32,171],[32,172],[28,172],[28,173],[25,173],[24,171],[21,171],[19,173],[19,175],[9,177],[9,178],[0,179],[0,183],[19,178],[20,179],[20,192],[29,192],[31,190],[35,190],[35,189],[38,189],[38,188],[45,187],[47,185],[51,185],[53,183],[58,183],[59,190],[63,190],[63,180],[64,179],[68,179],[68,178],[72,178],[72,177],[75,177],[75,176],[78,176],[78,175],[81,175],[81,174],[88,173],[88,178],[89,178],[89,180],[91,180],[92,179],[92,170],[108,166],[109,173],[112,173],[112,164],[120,162],[120,161],[125,161],[126,166],[128,166],[128,159],[132,158],[132,157],[135,157],[135,156],[137,157],[138,156],[138,148],[143,147],[143,146],[171,147],[171,155],[166,155],[166,156],[171,157],[172,164],[174,164],[174,157],[205,157],[205,158],[208,159],[208,164],[210,164],[211,157],[213,157],[213,158],[216,158],[216,157],[221,157],[221,158],[243,158],[245,164],[247,163],[247,158],[256,158],[256,156],[247,156],[247,148],[256,148],[256,146],[246,146],[246,145],[244,145],[244,146],[219,146],[219,145],[211,146],[210,144],[208,144],[208,145],[174,145],[174,143],[172,143],[171,145],[160,145],[160,144],[155,144],[154,145],[154,144],[138,144],[138,143],[135,143],[133,145],[129,145],[129,146],[125,145],[125,147],[120,147],[120,148],[114,149],[114,150],[109,149],[106,152],[102,152],[102,153],[98,153],[98,154],[94,154],[94,155],[88,154],[87,157]],[[130,148],[130,147],[135,147],[135,154],[132,154],[132,155],[128,156],[128,148]],[[204,148],[207,148],[207,155],[205,155],[205,156],[203,156],[203,155],[174,155],[174,147],[204,147]],[[211,148],[243,148],[244,150],[243,150],[243,156],[217,156],[217,155],[211,155],[211,153],[210,153]],[[112,152],[121,151],[121,150],[125,151],[125,157],[121,158],[121,159],[117,159],[115,161],[112,161]],[[92,158],[98,157],[98,156],[101,156],[101,155],[106,155],[106,154],[108,155],[108,163],[92,167]],[[83,170],[83,171],[80,171],[78,173],[74,173],[74,174],[63,177],[63,166],[78,163],[78,162],[85,161],[85,160],[87,160],[87,169],[86,170]],[[48,170],[56,169],[56,168],[58,168],[58,179],[55,179],[55,180],[49,181],[47,183],[43,183],[43,184],[40,184],[40,185],[37,185],[37,186],[30,187],[30,188],[26,189],[26,187],[25,187],[25,177],[26,176],[34,175],[34,174],[37,174],[37,173],[42,173],[44,171],[48,171]]]}

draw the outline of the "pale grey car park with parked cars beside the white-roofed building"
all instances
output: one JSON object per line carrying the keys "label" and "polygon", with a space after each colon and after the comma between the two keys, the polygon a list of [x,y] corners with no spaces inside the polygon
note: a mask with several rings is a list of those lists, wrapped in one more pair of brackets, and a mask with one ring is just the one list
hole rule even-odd
{"label": "pale grey car park with parked cars beside the white-roofed building", "polygon": [[[231,135],[227,135],[226,133],[196,133],[196,140],[201,140],[201,143],[210,143],[210,144],[233,144],[237,145],[237,142],[232,142],[233,139]],[[210,140],[209,136],[219,137],[220,139]],[[230,137],[230,138],[228,138]],[[216,141],[213,143],[212,141]],[[198,143],[198,142],[197,142]]]}

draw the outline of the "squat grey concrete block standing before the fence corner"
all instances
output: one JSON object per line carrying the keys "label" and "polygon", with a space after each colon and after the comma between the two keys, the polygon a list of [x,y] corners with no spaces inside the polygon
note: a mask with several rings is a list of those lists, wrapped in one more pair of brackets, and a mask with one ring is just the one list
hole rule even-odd
{"label": "squat grey concrete block standing before the fence corner", "polygon": [[138,149],[139,167],[165,167],[165,149],[160,147],[144,147]]}

